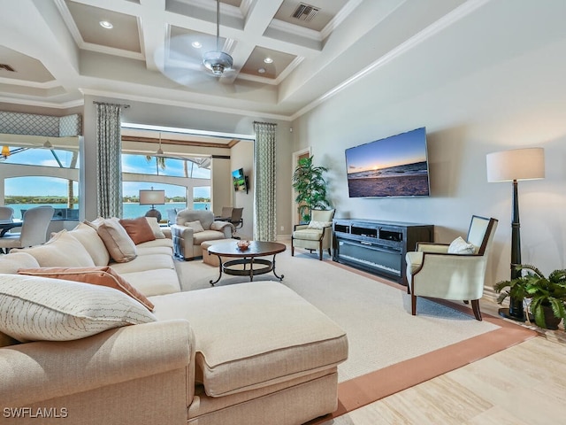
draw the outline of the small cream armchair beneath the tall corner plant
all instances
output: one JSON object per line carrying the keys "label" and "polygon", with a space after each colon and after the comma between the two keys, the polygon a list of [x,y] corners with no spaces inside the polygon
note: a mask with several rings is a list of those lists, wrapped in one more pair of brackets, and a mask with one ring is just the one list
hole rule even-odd
{"label": "small cream armchair beneath the tall corner plant", "polygon": [[291,236],[291,256],[294,248],[304,248],[310,252],[318,250],[318,259],[322,261],[324,250],[330,252],[333,240],[333,217],[336,210],[311,210],[309,224],[294,226]]}

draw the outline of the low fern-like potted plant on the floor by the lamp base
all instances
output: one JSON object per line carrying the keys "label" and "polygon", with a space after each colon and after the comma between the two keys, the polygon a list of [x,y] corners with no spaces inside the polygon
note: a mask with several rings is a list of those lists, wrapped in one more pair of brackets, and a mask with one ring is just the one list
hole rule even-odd
{"label": "low fern-like potted plant on the floor by the lamp base", "polygon": [[[556,329],[562,319],[566,319],[566,270],[555,270],[546,277],[534,266],[522,265],[517,270],[527,273],[511,281],[497,282],[493,289],[501,292],[497,302],[516,296],[530,298],[529,310],[540,328]],[[500,301],[501,299],[501,301]]]}

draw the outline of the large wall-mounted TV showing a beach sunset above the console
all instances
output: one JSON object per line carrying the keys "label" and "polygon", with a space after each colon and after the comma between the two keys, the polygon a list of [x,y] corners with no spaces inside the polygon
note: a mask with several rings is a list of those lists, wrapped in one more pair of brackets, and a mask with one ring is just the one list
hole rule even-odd
{"label": "large wall-mounted TV showing a beach sunset above the console", "polygon": [[428,197],[426,129],[346,150],[349,197]]}

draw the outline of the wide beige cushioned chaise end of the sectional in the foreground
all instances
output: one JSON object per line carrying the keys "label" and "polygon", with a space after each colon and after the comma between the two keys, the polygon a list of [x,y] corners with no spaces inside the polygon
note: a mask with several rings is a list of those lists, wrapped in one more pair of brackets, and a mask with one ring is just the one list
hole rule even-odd
{"label": "wide beige cushioned chaise end of the sectional in the foreground", "polygon": [[265,412],[277,417],[271,423],[303,423],[336,409],[346,333],[282,283],[150,300],[158,321],[187,319],[195,335],[197,385],[188,423],[267,423]]}

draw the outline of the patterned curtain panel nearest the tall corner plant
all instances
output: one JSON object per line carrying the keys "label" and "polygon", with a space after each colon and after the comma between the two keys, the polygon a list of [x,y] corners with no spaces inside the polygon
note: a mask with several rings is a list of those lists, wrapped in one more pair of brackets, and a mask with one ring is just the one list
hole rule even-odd
{"label": "patterned curtain panel nearest the tall corner plant", "polygon": [[275,133],[277,124],[254,122],[254,239],[274,242],[277,238],[275,211]]}

